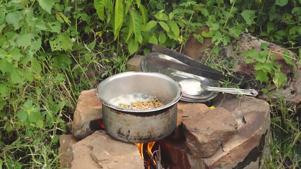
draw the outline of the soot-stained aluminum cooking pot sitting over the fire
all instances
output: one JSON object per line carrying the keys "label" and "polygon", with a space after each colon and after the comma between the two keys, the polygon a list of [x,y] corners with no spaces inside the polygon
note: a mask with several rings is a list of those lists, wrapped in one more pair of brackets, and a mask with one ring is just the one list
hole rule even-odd
{"label": "soot-stained aluminum cooking pot sitting over the fire", "polygon": [[[154,72],[124,72],[102,81],[96,90],[102,103],[102,120],[107,133],[124,142],[149,143],[170,135],[177,125],[177,103],[181,85],[173,78]],[[151,110],[123,109],[110,102],[124,94],[156,96],[164,106]],[[164,101],[163,101],[164,100]]]}

